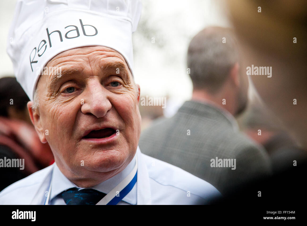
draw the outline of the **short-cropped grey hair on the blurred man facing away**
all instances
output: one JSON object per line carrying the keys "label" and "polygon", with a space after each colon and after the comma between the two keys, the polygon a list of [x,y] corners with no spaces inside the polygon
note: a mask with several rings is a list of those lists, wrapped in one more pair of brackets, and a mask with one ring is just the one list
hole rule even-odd
{"label": "short-cropped grey hair on the blurred man facing away", "polygon": [[[222,40],[225,38],[226,43]],[[217,91],[239,61],[237,41],[231,29],[208,27],[188,47],[187,65],[194,89]]]}

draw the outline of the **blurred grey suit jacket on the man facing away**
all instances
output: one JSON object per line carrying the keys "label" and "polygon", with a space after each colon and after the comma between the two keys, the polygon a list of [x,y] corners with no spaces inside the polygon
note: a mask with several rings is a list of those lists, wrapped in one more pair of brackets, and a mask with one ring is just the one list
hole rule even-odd
{"label": "blurred grey suit jacket on the man facing away", "polygon": [[[172,118],[155,121],[141,133],[139,147],[146,155],[208,181],[222,194],[271,173],[261,146],[235,130],[220,110],[196,101],[186,101]],[[216,157],[236,159],[235,169],[212,167]]]}

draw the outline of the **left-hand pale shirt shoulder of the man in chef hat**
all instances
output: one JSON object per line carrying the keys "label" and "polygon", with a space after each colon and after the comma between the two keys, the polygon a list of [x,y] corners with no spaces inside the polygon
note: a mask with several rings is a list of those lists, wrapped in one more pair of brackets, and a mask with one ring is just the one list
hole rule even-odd
{"label": "left-hand pale shirt shoulder of the man in chef hat", "polygon": [[[0,203],[1,204],[21,204],[22,201],[30,200],[35,195],[39,185],[45,176],[50,172],[52,165],[45,169],[39,170],[32,173],[31,175],[16,181],[14,184],[4,188],[0,192]],[[20,199],[19,199],[20,198]],[[23,204],[29,204],[27,201]]]}

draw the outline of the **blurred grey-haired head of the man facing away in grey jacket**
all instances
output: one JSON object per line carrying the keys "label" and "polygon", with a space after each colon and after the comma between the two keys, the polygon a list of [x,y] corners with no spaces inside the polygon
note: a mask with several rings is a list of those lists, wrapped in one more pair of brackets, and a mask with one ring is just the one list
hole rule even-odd
{"label": "blurred grey-haired head of the man facing away in grey jacket", "polygon": [[[247,105],[248,77],[242,73],[235,35],[229,28],[208,27],[192,39],[187,64],[193,100],[207,99],[241,113]],[[226,105],[222,100],[226,100]]]}

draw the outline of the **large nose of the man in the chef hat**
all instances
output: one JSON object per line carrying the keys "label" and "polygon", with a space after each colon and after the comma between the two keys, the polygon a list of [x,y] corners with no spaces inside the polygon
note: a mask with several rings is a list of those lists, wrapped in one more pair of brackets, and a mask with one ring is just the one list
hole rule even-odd
{"label": "large nose of the man in the chef hat", "polygon": [[81,112],[93,114],[97,118],[104,117],[112,107],[109,93],[99,81],[91,81],[83,92],[84,101],[83,103],[81,101]]}

